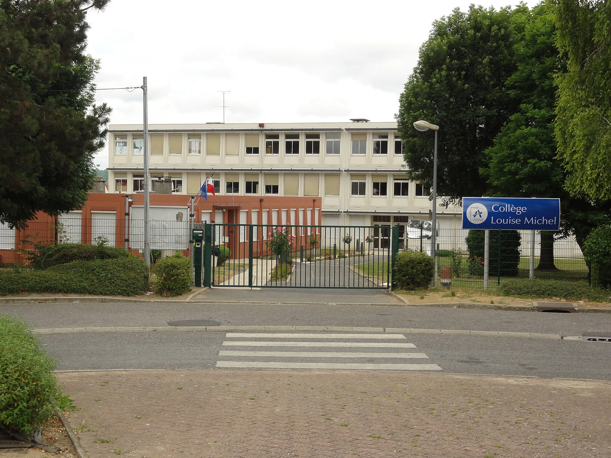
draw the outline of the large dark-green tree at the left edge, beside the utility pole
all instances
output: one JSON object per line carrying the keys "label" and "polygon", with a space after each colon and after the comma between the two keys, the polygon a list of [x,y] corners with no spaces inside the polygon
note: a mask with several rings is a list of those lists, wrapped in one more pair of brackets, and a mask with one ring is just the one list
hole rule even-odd
{"label": "large dark-green tree at the left edge, beside the utility pole", "polygon": [[93,104],[86,13],[109,0],[0,0],[0,221],[79,208],[110,109]]}

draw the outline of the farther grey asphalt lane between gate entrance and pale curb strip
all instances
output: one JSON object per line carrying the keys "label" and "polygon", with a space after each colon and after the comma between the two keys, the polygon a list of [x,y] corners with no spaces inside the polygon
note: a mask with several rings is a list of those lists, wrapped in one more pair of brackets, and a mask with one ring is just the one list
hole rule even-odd
{"label": "farther grey asphalt lane between gate entrance and pale curb strip", "polygon": [[[244,290],[238,291],[244,292]],[[364,290],[363,294],[366,292],[367,290]],[[246,291],[245,297],[252,297],[254,293],[258,291]],[[313,289],[312,294],[318,294],[318,290]],[[611,314],[607,313],[537,313],[409,307],[399,305],[397,302],[394,305],[164,304],[163,302],[2,304],[0,313],[20,315],[37,328],[166,326],[169,321],[175,320],[210,319],[223,325],[406,327],[562,335],[580,335],[584,331],[611,332]]]}

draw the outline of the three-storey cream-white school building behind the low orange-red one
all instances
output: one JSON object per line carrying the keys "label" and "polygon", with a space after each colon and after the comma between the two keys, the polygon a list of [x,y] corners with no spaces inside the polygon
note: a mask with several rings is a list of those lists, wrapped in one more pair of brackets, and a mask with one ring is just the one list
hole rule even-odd
{"label": "three-storey cream-white school building behind the low orange-red one", "polygon": [[[142,125],[109,132],[109,187],[140,191]],[[211,176],[221,195],[317,198],[326,225],[430,219],[430,190],[407,180],[394,122],[150,125],[149,133],[151,176],[171,176],[175,194],[197,194]],[[438,227],[459,228],[460,214],[440,206]]]}

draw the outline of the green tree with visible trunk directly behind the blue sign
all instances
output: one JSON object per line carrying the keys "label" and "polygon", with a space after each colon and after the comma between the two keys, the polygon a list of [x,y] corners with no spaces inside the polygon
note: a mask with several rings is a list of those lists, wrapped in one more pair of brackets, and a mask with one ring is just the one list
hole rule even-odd
{"label": "green tree with visible trunk directly behind the blue sign", "polygon": [[[507,80],[511,98],[519,106],[486,150],[486,166],[480,170],[490,194],[502,197],[560,198],[562,232],[575,234],[583,246],[585,236],[606,220],[609,202],[592,202],[565,189],[566,173],[557,159],[554,136],[558,76],[566,71],[566,58],[556,46],[556,27],[551,8],[540,4],[516,45],[517,68]],[[538,269],[555,269],[554,233],[541,233]]]}

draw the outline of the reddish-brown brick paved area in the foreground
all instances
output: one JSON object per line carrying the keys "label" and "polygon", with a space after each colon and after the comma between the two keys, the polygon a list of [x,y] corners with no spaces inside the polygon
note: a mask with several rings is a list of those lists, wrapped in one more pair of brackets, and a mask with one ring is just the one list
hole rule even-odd
{"label": "reddish-brown brick paved area in the foreground", "polygon": [[90,458],[611,456],[609,382],[254,370],[59,378]]}

